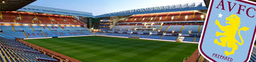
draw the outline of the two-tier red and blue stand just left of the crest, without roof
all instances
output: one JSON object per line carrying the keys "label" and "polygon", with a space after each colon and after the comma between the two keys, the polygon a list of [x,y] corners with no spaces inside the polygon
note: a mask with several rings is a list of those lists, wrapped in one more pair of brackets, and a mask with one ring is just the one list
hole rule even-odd
{"label": "two-tier red and blue stand just left of the crest, without roof", "polygon": [[[197,11],[132,15],[118,21],[104,35],[139,36],[144,39],[172,41],[176,41],[178,37],[184,37],[183,41],[199,42],[204,20],[205,13]],[[103,33],[101,32],[101,34]]]}

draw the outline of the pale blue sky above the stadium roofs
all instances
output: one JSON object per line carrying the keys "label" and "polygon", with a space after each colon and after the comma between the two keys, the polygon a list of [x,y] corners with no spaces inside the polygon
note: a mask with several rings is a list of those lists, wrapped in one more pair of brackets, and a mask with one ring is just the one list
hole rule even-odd
{"label": "pale blue sky above the stadium roofs", "polygon": [[30,5],[69,9],[93,13],[93,16],[105,13],[127,11],[130,9],[169,6],[204,2],[203,0],[37,0]]}

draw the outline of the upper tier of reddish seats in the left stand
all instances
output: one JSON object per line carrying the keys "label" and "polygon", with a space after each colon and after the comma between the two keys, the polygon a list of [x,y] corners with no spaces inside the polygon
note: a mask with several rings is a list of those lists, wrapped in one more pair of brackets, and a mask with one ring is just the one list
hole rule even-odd
{"label": "upper tier of reddish seats in the left stand", "polygon": [[16,11],[1,12],[0,22],[85,25],[85,23],[76,20],[72,16],[47,15],[41,13]]}

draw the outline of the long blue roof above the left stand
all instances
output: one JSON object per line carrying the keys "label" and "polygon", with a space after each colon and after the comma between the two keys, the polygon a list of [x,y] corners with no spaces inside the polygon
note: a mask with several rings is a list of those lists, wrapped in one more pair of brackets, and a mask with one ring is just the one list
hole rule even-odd
{"label": "long blue roof above the left stand", "polygon": [[92,16],[92,13],[89,13],[89,12],[72,11],[72,10],[68,10],[68,9],[59,9],[59,8],[33,6],[33,5],[25,6],[23,8],[20,8],[17,11],[52,13],[52,14],[57,14],[57,15],[70,15],[70,16],[82,16],[82,17],[94,17],[94,16]]}

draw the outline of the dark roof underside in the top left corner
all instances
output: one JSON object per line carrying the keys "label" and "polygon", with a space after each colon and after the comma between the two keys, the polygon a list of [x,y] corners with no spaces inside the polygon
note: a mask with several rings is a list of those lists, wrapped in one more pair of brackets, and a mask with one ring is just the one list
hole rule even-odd
{"label": "dark roof underside in the top left corner", "polygon": [[37,0],[0,0],[0,11],[17,11]]}

